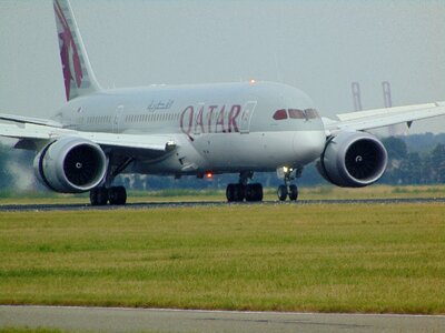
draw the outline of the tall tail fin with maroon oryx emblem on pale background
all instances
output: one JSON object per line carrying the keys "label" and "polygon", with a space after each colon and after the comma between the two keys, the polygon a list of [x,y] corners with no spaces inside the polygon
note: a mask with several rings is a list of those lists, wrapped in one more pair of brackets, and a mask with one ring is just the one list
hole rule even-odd
{"label": "tall tail fin with maroon oryx emblem on pale background", "polygon": [[67,101],[99,91],[69,0],[53,0]]}

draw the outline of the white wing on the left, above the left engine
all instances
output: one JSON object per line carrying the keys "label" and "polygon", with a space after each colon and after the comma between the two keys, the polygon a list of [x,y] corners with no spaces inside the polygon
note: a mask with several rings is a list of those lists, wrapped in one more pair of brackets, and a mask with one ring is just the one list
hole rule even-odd
{"label": "white wing on the left, above the left engine", "polygon": [[[62,137],[78,137],[98,143],[105,150],[115,150],[131,155],[144,154],[145,157],[158,158],[176,148],[174,138],[169,135],[81,132],[47,125],[43,122],[40,122],[40,124],[37,122],[30,123],[24,118],[12,115],[11,118],[13,119],[8,120],[16,123],[0,123],[0,137],[20,139],[19,144],[16,147],[32,148],[34,145],[38,148],[41,143],[44,144]],[[0,119],[6,119],[4,114],[1,114]],[[51,121],[47,123],[51,123]]]}

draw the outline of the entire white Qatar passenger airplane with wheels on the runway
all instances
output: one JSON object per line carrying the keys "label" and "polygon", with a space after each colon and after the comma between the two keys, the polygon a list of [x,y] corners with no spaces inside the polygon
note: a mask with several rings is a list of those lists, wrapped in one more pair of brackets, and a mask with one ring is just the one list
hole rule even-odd
{"label": "entire white Qatar passenger airplane with wheels on the runway", "polygon": [[127,202],[121,173],[239,173],[228,202],[261,201],[256,172],[276,171],[280,201],[295,201],[305,165],[338,186],[362,188],[385,172],[387,152],[368,131],[445,114],[445,102],[322,118],[303,91],[275,82],[102,89],[70,2],[53,0],[67,103],[51,119],[0,114],[0,137],[37,152],[48,189],[90,192],[91,205]]}

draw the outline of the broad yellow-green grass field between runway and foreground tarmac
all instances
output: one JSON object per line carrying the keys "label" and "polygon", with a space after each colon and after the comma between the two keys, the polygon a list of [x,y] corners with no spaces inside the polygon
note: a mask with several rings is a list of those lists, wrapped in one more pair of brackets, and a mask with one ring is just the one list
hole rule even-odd
{"label": "broad yellow-green grass field between runway and foreground tarmac", "polygon": [[445,313],[445,204],[0,213],[0,303]]}

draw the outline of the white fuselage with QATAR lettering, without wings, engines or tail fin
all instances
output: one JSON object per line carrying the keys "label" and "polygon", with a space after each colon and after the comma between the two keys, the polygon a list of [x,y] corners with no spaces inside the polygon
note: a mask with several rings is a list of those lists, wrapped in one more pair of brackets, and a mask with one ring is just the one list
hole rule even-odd
{"label": "white fuselage with QATAR lettering, without wings, engines or tail fin", "polygon": [[155,85],[80,97],[53,119],[79,131],[165,135],[176,150],[158,160],[141,157],[126,172],[180,175],[310,163],[326,143],[323,122],[316,113],[289,118],[289,109],[315,110],[305,93],[279,83]]}

